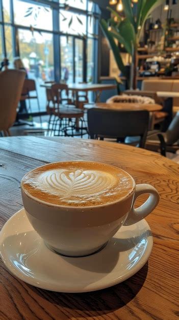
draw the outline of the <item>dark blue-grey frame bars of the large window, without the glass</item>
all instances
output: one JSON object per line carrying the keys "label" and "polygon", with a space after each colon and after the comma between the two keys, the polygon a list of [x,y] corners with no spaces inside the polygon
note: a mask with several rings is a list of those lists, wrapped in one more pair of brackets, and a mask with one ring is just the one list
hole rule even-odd
{"label": "dark blue-grey frame bars of the large window, without the glass", "polygon": [[[59,81],[61,78],[61,48],[60,48],[60,36],[66,35],[60,30],[60,9],[64,9],[63,5],[59,4],[58,0],[53,0],[53,1],[48,1],[48,0],[39,0],[34,1],[34,0],[23,0],[24,2],[27,2],[29,4],[34,4],[34,5],[41,5],[45,7],[50,7],[52,9],[52,20],[53,20],[53,30],[48,31],[40,28],[33,28],[34,31],[37,32],[44,32],[44,33],[50,33],[53,35],[53,49],[54,49],[54,70],[55,70],[55,80]],[[73,41],[75,41],[75,38],[83,39],[83,81],[87,81],[87,41],[88,39],[93,39],[93,63],[94,63],[94,75],[93,75],[93,80],[94,82],[97,82],[98,75],[96,73],[96,70],[98,70],[98,63],[97,60],[95,59],[96,54],[97,54],[97,48],[98,48],[98,28],[99,28],[99,17],[100,17],[100,10],[97,5],[94,4],[94,35],[89,35],[88,34],[88,19],[91,15],[91,12],[88,11],[88,5],[89,5],[89,0],[87,0],[87,8],[86,10],[82,10],[79,8],[74,8],[74,7],[69,7],[68,11],[72,13],[78,13],[78,14],[83,14],[86,15],[87,17],[87,22],[86,22],[86,36],[80,36],[76,34],[68,34],[69,36],[73,37]],[[23,29],[23,30],[30,30],[30,26],[22,26],[15,24],[14,22],[14,8],[13,8],[13,0],[10,0],[10,15],[11,15],[11,22],[4,22],[4,16],[3,16],[3,1],[0,0],[0,26],[2,26],[2,47],[3,47],[3,54],[4,57],[7,56],[7,51],[6,51],[6,41],[5,41],[5,26],[11,26],[12,28],[12,47],[13,47],[13,57],[15,56],[20,56],[20,51],[19,51],[19,38],[18,38],[18,30]],[[2,17],[2,19],[1,19]],[[74,55],[73,55],[74,59]]]}

